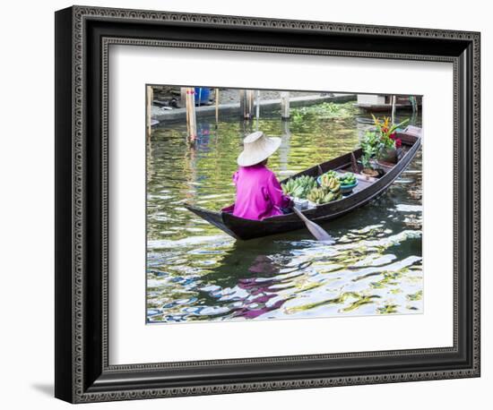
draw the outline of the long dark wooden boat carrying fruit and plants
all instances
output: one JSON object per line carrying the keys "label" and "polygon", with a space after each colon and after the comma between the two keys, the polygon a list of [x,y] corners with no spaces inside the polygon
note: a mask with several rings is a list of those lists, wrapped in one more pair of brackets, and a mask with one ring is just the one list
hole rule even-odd
{"label": "long dark wooden boat carrying fruit and plants", "polygon": [[[420,132],[417,132],[415,127],[410,132],[398,132],[398,137],[402,140],[402,155],[396,164],[385,164],[383,166],[385,169],[383,176],[367,179],[364,175],[358,175],[359,184],[350,195],[344,196],[338,201],[332,201],[324,205],[319,205],[316,208],[306,209],[303,211],[303,214],[316,223],[321,223],[342,217],[342,215],[367,204],[385,192],[394,183],[395,179],[402,174],[402,171],[408,167],[421,145]],[[289,178],[283,180],[282,183],[300,175],[321,175],[331,169],[351,172],[352,154],[358,159],[361,157],[361,153],[361,149],[356,149],[341,157],[333,158],[330,161],[308,168],[296,175],[291,175]],[[187,205],[186,208],[213,226],[217,226],[228,235],[241,240],[281,234],[305,227],[305,224],[294,212],[263,220],[252,220],[238,218],[227,212],[201,209],[191,205]]]}

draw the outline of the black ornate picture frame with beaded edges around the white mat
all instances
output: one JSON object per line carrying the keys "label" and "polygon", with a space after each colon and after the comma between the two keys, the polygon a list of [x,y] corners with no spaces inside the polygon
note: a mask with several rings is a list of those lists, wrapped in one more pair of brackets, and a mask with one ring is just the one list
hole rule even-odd
{"label": "black ornate picture frame with beaded edges around the white mat", "polygon": [[[108,47],[454,64],[454,346],[108,364]],[[73,6],[56,12],[56,389],[72,403],[480,376],[480,33]]]}

